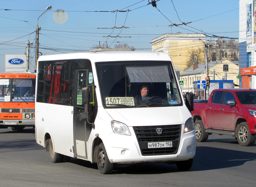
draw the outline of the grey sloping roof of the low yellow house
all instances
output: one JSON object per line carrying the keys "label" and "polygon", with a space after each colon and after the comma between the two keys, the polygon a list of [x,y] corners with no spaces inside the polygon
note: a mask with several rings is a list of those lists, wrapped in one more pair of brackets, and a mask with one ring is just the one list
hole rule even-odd
{"label": "grey sloping roof of the low yellow house", "polygon": [[[213,62],[208,62],[208,69],[210,69],[211,67],[217,65],[217,64],[220,64],[222,63],[223,61],[225,60],[218,60],[218,61],[213,61]],[[228,60],[229,61],[229,60]],[[232,62],[232,61],[229,61],[229,62]],[[237,61],[234,61],[234,62],[237,62]],[[232,62],[232,63],[234,63]],[[236,63],[234,63],[236,64]],[[201,74],[202,72],[205,71],[205,63],[203,64],[198,64],[198,68],[194,69],[193,70],[193,67],[192,68],[189,68],[183,72],[180,73],[180,76],[184,76],[184,75],[194,75],[194,74]]]}

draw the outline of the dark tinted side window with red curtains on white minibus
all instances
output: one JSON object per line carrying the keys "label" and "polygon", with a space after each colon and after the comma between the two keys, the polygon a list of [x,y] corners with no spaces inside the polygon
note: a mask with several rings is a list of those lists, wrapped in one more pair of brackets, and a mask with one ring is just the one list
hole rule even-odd
{"label": "dark tinted side window with red curtains on white minibus", "polygon": [[72,60],[39,62],[37,102],[72,105]]}

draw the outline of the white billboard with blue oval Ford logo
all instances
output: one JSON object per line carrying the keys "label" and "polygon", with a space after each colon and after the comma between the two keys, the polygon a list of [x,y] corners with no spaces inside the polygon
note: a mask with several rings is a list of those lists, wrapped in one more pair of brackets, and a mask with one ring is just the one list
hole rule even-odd
{"label": "white billboard with blue oval Ford logo", "polygon": [[5,72],[26,72],[26,55],[5,55]]}

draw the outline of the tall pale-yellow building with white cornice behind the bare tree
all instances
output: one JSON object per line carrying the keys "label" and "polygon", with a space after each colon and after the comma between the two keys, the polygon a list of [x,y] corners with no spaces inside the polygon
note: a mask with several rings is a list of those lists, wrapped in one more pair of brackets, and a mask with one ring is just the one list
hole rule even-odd
{"label": "tall pale-yellow building with white cornice behind the bare tree", "polygon": [[205,39],[204,34],[163,34],[152,40],[152,51],[167,53],[172,58],[175,70],[181,72],[187,69],[189,51],[193,48],[204,48]]}

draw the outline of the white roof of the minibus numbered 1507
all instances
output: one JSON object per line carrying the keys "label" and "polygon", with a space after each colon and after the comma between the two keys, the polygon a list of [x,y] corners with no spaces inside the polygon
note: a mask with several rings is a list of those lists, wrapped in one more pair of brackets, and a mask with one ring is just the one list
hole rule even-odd
{"label": "white roof of the minibus numbered 1507", "polygon": [[152,51],[95,51],[84,53],[69,53],[57,55],[43,55],[38,61],[89,59],[91,62],[105,61],[170,61],[168,54]]}

